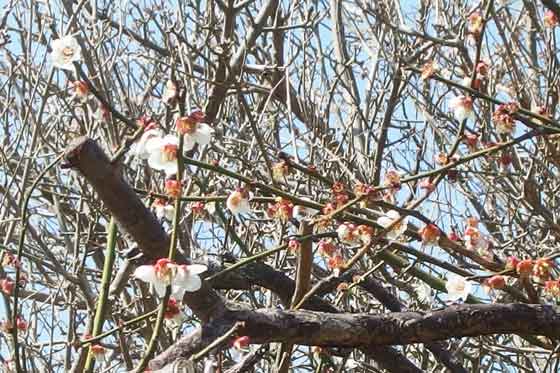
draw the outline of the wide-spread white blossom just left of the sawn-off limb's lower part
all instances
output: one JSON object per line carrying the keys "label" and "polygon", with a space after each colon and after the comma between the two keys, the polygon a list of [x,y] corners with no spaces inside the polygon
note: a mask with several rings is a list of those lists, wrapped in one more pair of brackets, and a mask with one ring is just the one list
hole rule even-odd
{"label": "wide-spread white blossom just left of the sawn-off limb's lower part", "polygon": [[158,296],[163,297],[167,286],[171,286],[171,296],[181,300],[185,292],[193,292],[200,289],[202,280],[199,274],[207,270],[201,264],[176,264],[175,262],[162,258],[154,265],[143,265],[134,271],[134,277],[153,285]]}

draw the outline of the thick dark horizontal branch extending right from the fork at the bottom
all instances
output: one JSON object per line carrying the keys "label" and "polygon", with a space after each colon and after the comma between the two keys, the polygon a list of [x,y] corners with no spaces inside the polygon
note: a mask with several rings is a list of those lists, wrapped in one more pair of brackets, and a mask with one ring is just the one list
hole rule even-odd
{"label": "thick dark horizontal branch extending right from the fork at the bottom", "polygon": [[254,343],[359,347],[502,333],[560,336],[560,314],[556,307],[519,303],[460,305],[426,314],[257,310],[232,312],[229,317],[245,321],[243,334],[250,336]]}

